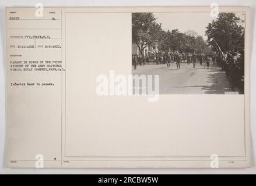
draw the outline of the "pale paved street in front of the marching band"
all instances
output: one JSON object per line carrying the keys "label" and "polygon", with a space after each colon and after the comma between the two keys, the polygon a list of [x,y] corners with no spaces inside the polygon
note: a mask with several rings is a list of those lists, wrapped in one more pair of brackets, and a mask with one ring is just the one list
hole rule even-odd
{"label": "pale paved street in front of the marching band", "polygon": [[177,70],[176,64],[170,65],[145,65],[132,68],[132,74],[159,75],[160,94],[224,94],[233,91],[224,71],[217,65],[204,65],[197,63],[195,69],[192,63],[181,63]]}

